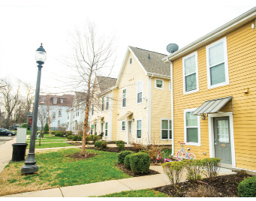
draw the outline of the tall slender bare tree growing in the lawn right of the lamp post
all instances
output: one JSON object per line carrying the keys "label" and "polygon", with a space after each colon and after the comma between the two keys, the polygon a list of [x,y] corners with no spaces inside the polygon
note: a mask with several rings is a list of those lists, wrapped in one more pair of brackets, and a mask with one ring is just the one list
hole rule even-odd
{"label": "tall slender bare tree growing in the lawn right of the lamp post", "polygon": [[95,98],[96,76],[104,74],[109,76],[115,59],[113,58],[113,38],[98,37],[95,26],[88,23],[84,31],[76,30],[71,37],[73,52],[70,58],[65,59],[75,75],[71,77],[69,86],[76,87],[78,91],[85,93],[86,111],[83,126],[83,140],[81,154],[86,154],[86,133],[89,130],[89,108],[92,99]]}

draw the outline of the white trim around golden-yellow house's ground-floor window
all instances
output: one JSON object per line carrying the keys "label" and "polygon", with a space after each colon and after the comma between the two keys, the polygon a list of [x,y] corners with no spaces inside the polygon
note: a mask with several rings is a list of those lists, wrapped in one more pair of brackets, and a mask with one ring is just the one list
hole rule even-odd
{"label": "white trim around golden-yellow house's ground-floor window", "polygon": [[197,137],[198,137],[198,142],[188,142],[187,140],[187,124],[186,124],[186,113],[188,112],[194,112],[197,110],[197,108],[191,108],[191,109],[186,109],[184,110],[184,142],[186,145],[196,145],[196,146],[201,146],[201,132],[200,132],[200,115],[197,115]]}

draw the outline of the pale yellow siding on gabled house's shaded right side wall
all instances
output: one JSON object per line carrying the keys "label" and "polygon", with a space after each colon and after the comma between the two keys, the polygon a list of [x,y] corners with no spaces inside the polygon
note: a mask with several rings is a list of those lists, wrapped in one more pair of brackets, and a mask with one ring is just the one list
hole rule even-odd
{"label": "pale yellow siding on gabled house's shaded right side wall", "polygon": [[164,89],[155,89],[155,77],[151,79],[151,139],[152,143],[170,145],[171,140],[161,139],[161,118],[171,120],[170,80],[164,80]]}

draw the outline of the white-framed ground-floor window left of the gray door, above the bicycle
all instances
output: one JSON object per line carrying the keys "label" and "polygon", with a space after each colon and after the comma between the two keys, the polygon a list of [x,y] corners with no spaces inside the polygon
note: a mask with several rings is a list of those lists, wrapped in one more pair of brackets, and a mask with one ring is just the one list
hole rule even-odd
{"label": "white-framed ground-floor window left of the gray door, above the bicycle", "polygon": [[194,109],[184,110],[184,139],[188,145],[200,145],[200,115],[192,115]]}

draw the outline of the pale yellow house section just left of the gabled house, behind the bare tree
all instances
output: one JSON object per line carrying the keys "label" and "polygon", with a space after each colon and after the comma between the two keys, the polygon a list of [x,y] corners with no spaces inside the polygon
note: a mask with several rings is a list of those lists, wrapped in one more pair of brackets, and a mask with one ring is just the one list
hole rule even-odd
{"label": "pale yellow house section just left of the gabled house, behind the bare tree", "polygon": [[103,133],[103,139],[112,140],[116,134],[116,78],[97,76],[94,86],[89,122],[91,132]]}

